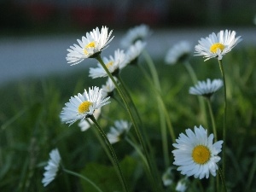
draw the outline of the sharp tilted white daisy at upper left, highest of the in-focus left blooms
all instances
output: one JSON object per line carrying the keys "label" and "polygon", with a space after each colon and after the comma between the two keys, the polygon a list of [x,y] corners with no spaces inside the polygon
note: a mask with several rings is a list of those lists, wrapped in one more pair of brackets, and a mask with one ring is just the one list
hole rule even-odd
{"label": "sharp tilted white daisy at upper left, highest of the in-focus left blooms", "polygon": [[82,39],[78,39],[79,44],[73,44],[67,54],[67,63],[71,65],[79,64],[86,58],[93,58],[97,54],[100,54],[103,49],[107,48],[107,45],[112,41],[113,37],[110,38],[113,31],[108,33],[108,27],[102,26],[100,32],[99,28],[93,29],[92,32],[86,32],[86,36]]}

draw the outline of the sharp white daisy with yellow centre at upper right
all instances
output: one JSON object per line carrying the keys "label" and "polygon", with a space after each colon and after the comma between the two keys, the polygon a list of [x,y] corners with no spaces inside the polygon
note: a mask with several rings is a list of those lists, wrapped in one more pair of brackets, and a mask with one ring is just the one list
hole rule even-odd
{"label": "sharp white daisy with yellow centre at upper right", "polygon": [[207,38],[201,38],[199,44],[195,45],[195,55],[202,55],[207,58],[205,61],[218,57],[222,60],[223,55],[230,52],[236,44],[241,42],[241,36],[235,38],[236,32],[233,31],[220,31],[216,35],[214,32]]}

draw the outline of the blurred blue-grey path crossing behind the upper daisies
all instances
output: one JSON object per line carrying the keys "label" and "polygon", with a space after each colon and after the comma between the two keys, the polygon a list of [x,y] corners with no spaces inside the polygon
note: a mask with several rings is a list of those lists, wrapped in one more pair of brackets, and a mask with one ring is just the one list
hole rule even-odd
{"label": "blurred blue-grey path crossing behind the upper daisies", "polygon": [[[153,30],[148,38],[147,48],[153,57],[166,55],[167,49],[180,40],[188,40],[191,44],[197,44],[200,38],[207,37],[212,32],[220,29],[190,29],[190,30]],[[241,36],[240,43],[256,44],[256,27],[232,29]],[[114,32],[113,42],[108,49],[102,52],[103,56],[113,55],[115,49],[119,49],[120,39],[125,32]],[[0,38],[0,86],[10,80],[22,79],[30,76],[44,76],[51,73],[70,73],[84,69],[88,65],[96,63],[88,59],[79,65],[70,67],[66,61],[67,48],[77,44],[78,35],[61,37],[33,37],[33,38]],[[88,73],[85,72],[85,75]]]}

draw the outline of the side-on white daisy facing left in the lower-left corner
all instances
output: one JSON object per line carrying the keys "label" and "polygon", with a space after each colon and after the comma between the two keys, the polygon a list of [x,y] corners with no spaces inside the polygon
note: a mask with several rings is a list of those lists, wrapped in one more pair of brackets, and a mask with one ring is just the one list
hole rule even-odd
{"label": "side-on white daisy facing left in the lower-left corner", "polygon": [[56,173],[58,172],[60,161],[61,161],[61,155],[59,153],[59,150],[57,148],[53,149],[49,153],[49,161],[47,166],[44,166],[44,178],[42,179],[42,183],[44,184],[44,187],[47,186],[50,182],[52,182],[55,179]]}

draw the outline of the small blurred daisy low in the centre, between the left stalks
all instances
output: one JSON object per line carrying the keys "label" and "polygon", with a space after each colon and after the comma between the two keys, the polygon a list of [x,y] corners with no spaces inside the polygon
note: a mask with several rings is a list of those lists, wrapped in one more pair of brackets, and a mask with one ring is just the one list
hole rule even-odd
{"label": "small blurred daisy low in the centre, between the left stalks", "polygon": [[124,138],[131,128],[131,123],[125,120],[114,121],[114,126],[110,127],[110,131],[107,134],[110,143],[117,143]]}

